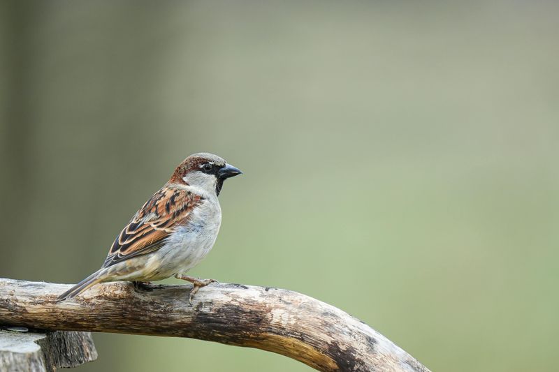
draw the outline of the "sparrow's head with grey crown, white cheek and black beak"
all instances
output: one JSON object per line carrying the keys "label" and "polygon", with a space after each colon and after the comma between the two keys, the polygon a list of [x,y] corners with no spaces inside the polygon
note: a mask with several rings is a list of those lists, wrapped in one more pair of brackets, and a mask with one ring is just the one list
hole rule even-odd
{"label": "sparrow's head with grey crown, white cheek and black beak", "polygon": [[169,181],[173,184],[187,184],[219,195],[223,182],[241,173],[233,165],[227,164],[223,158],[201,152],[184,159]]}

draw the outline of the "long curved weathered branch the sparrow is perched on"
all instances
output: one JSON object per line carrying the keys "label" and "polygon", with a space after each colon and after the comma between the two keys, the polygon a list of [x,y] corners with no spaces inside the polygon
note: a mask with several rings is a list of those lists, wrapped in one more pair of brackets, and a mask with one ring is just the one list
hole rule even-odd
{"label": "long curved weathered branch the sparrow is perched on", "polygon": [[55,302],[67,284],[0,278],[0,324],[48,330],[178,336],[277,352],[320,371],[426,371],[365,323],[297,292],[213,283],[95,285]]}

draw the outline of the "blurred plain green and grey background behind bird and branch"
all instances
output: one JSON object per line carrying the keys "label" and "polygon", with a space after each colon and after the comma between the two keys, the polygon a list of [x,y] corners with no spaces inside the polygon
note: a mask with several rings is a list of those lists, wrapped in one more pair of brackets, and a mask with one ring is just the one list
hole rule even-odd
{"label": "blurred plain green and grey background behind bird and branch", "polygon": [[[556,369],[558,12],[2,1],[0,276],[79,281],[177,163],[211,151],[245,174],[191,274],[321,299],[433,371]],[[80,371],[310,370],[95,339]]]}

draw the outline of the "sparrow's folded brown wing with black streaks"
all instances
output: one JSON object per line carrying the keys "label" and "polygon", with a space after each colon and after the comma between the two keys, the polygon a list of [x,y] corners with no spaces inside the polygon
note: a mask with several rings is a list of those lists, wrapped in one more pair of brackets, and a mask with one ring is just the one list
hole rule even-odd
{"label": "sparrow's folded brown wing with black streaks", "polygon": [[191,210],[201,201],[200,196],[182,188],[161,188],[122,229],[103,267],[157,251],[177,225],[187,223]]}

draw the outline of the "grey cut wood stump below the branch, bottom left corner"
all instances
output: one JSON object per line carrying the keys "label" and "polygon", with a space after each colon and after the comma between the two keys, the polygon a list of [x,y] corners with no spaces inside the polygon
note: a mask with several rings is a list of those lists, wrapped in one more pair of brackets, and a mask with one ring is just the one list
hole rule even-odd
{"label": "grey cut wood stump below the branch, bottom left corner", "polygon": [[89,332],[0,330],[0,371],[55,371],[97,359]]}

